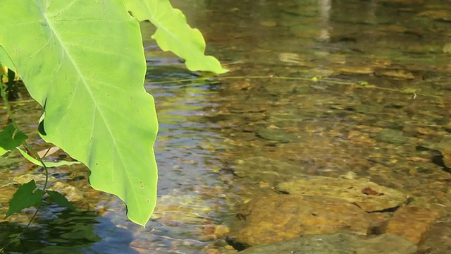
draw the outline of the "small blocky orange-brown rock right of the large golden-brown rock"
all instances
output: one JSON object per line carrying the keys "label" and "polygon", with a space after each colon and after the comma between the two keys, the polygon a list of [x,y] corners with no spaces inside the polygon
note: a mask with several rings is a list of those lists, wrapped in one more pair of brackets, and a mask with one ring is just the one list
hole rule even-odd
{"label": "small blocky orange-brown rock right of the large golden-brown rock", "polygon": [[431,225],[440,217],[439,212],[423,207],[401,207],[388,220],[385,233],[407,238],[419,244]]}

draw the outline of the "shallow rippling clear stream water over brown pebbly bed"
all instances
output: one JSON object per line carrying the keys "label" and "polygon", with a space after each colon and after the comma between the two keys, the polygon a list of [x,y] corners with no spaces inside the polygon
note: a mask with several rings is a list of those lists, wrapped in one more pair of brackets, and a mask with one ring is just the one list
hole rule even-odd
{"label": "shallow rippling clear stream water over brown pebbly bed", "polygon": [[[231,71],[199,80],[144,40],[145,87],[156,99],[160,121],[159,205],[147,228],[128,222],[116,198],[90,190],[86,169],[63,167],[51,173],[76,186],[87,198],[78,205],[91,212],[45,207],[23,242],[9,250],[233,253],[226,234],[211,234],[209,227],[235,225],[240,204],[265,192],[257,183],[274,186],[297,174],[367,177],[403,190],[443,214],[422,248],[451,249],[451,166],[440,159],[451,148],[449,1],[174,5],[202,30],[207,52]],[[149,31],[144,23],[143,34]],[[31,132],[39,108],[25,101],[15,110]],[[254,157],[266,160],[249,162]],[[12,159],[4,167],[11,170],[0,172],[2,186],[10,173],[30,170]],[[278,179],[262,177],[262,171],[275,169]],[[245,176],[234,174],[238,170]],[[12,188],[5,188],[7,200]],[[1,223],[2,238],[22,231],[30,212]]]}

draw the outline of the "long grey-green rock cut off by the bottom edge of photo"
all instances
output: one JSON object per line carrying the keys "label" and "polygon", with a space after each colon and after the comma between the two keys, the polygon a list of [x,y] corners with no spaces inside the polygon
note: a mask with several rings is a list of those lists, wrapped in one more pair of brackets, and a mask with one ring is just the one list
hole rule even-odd
{"label": "long grey-green rock cut off by the bottom edge of photo", "polygon": [[264,246],[256,246],[240,253],[414,254],[416,253],[416,246],[402,237],[388,234],[374,238],[364,238],[351,234],[323,234],[296,237]]}

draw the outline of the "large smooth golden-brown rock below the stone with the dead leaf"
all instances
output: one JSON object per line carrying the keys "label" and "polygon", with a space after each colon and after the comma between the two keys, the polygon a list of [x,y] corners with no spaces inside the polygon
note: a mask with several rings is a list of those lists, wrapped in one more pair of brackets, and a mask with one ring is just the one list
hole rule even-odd
{"label": "large smooth golden-brown rock below the stone with the dead leaf", "polygon": [[[309,200],[307,200],[309,199]],[[243,213],[246,225],[237,241],[251,246],[302,234],[327,234],[347,230],[366,234],[369,217],[345,200],[302,195],[271,195],[249,202]]]}

